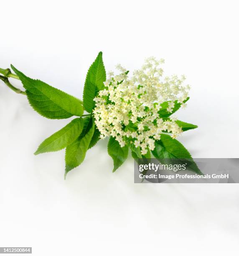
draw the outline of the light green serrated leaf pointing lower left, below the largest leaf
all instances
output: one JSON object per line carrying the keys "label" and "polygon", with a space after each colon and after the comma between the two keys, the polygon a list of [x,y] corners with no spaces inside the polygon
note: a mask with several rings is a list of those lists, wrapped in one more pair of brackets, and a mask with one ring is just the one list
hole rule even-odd
{"label": "light green serrated leaf pointing lower left, below the largest leaf", "polygon": [[80,136],[82,129],[83,119],[75,118],[64,128],[52,134],[49,138],[46,138],[46,140],[41,143],[34,154],[38,155],[65,148]]}

